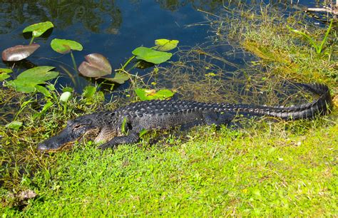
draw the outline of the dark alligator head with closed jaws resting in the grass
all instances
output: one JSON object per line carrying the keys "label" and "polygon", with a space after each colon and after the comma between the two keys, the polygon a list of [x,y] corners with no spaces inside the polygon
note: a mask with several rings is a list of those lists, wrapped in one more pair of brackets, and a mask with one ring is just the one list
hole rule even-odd
{"label": "dark alligator head with closed jaws resting in the grass", "polygon": [[[103,132],[102,123],[93,115],[83,115],[74,120],[68,120],[67,126],[58,135],[48,138],[38,145],[38,150],[56,151],[73,145],[76,141],[95,140],[101,141]],[[113,137],[112,131],[109,135]]]}

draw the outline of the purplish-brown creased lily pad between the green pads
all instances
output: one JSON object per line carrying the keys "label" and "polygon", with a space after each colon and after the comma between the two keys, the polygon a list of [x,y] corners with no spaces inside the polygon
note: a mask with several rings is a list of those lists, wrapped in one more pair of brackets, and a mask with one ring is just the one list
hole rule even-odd
{"label": "purplish-brown creased lily pad between the green pads", "polygon": [[83,61],[78,67],[81,75],[98,78],[111,74],[111,64],[105,56],[99,53],[91,53],[85,56],[85,58],[86,61]]}

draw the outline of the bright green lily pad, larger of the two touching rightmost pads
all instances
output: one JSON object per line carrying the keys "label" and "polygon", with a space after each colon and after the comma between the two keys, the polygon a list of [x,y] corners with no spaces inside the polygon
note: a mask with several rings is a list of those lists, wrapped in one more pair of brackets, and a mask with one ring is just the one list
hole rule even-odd
{"label": "bright green lily pad, larger of the two touching rightmost pads", "polygon": [[168,61],[171,56],[173,56],[172,53],[164,52],[164,51],[155,51],[151,48],[146,48],[146,47],[138,47],[135,48],[133,51],[133,55],[136,56],[136,58],[143,60],[143,61],[148,61],[150,63],[163,63],[165,61]]}

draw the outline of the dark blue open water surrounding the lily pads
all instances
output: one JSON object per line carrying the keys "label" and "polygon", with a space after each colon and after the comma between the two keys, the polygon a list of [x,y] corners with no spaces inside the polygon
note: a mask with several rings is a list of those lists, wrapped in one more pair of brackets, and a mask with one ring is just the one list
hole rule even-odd
{"label": "dark blue open water surrounding the lily pads", "polygon": [[[83,61],[88,53],[101,53],[111,62],[113,68],[119,68],[138,46],[153,46],[157,38],[177,39],[180,46],[195,46],[203,43],[210,36],[209,26],[186,27],[188,24],[205,22],[206,13],[219,14],[223,4],[236,7],[244,1],[194,1],[194,0],[167,0],[167,1],[0,1],[0,51],[18,44],[28,44],[29,38],[24,38],[22,30],[30,24],[41,21],[51,21],[53,31],[46,38],[36,38],[41,45],[29,61],[37,66],[56,66],[61,72],[59,85],[74,86],[71,79],[61,70],[63,66],[75,75],[72,70],[69,55],[61,56],[50,48],[53,38],[66,38],[78,41],[83,45],[83,51],[76,51],[76,62]],[[261,1],[249,1],[259,5]],[[297,1],[294,1],[297,2]],[[250,3],[248,4],[250,6]],[[257,4],[258,3],[258,4]],[[263,1],[263,4],[281,6],[290,4],[290,1]],[[314,6],[318,1],[299,1],[299,4]],[[225,46],[218,48],[227,51]],[[175,56],[173,57],[175,60]],[[233,61],[242,64],[243,61]],[[7,63],[7,67],[14,66]],[[6,67],[0,63],[0,68]],[[22,70],[16,71],[20,73]],[[142,74],[142,71],[138,71]],[[14,77],[16,75],[14,73]],[[79,78],[76,89],[91,81]],[[120,88],[126,88],[128,83]]]}

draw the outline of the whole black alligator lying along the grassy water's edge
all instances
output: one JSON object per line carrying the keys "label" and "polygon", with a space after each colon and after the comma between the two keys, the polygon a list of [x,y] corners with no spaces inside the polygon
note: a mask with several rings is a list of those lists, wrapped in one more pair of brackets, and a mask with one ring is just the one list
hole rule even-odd
{"label": "whole black alligator lying along the grassy water's edge", "polygon": [[290,107],[244,105],[229,103],[201,103],[188,100],[148,100],[130,103],[113,111],[82,115],[68,120],[58,135],[41,142],[41,151],[61,150],[76,141],[103,142],[102,150],[121,144],[138,142],[143,130],[170,129],[176,126],[227,125],[235,115],[270,116],[282,120],[311,119],[329,113],[332,98],[327,85],[297,83],[319,95],[311,103]]}

